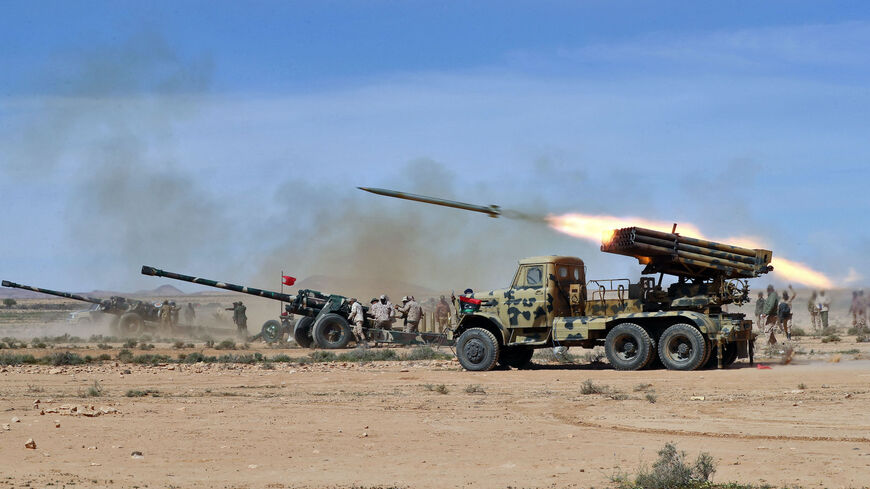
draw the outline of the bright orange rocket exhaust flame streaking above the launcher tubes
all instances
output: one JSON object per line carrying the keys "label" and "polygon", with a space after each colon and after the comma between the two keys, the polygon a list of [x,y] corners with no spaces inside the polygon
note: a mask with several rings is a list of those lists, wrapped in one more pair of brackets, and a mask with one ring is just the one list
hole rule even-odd
{"label": "bright orange rocket exhaust flame streaking above the launcher tubes", "polygon": [[[579,213],[547,216],[547,222],[551,228],[560,233],[590,241],[598,241],[600,239],[602,243],[609,243],[613,239],[613,231],[619,228],[638,226],[669,233],[673,226],[673,224],[664,221],[653,221],[638,217],[594,216]],[[725,239],[707,238],[700,229],[691,224],[680,223],[678,230],[686,236],[710,239],[746,248],[762,248],[764,246],[760,244],[761,240],[745,236]],[[822,272],[813,270],[803,263],[774,257],[771,265],[773,265],[773,273],[786,280],[816,288],[829,289],[834,287],[833,280]]]}

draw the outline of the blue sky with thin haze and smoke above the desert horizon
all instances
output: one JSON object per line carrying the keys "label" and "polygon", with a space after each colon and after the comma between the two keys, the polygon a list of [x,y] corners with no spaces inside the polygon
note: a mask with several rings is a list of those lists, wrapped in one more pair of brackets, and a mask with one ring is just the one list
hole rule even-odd
{"label": "blue sky with thin haze and smoke above the desert horizon", "polygon": [[594,243],[358,185],[691,222],[843,285],[870,273],[865,2],[0,1],[0,14],[3,278],[133,289],[154,285],[137,276],[147,263],[464,288],[543,253],[637,273]]}

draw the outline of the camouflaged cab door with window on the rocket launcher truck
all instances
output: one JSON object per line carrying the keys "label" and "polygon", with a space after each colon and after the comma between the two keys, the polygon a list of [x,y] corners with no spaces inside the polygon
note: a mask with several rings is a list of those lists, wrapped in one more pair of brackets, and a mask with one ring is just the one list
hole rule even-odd
{"label": "camouflaged cab door with window on the rocket launcher truck", "polygon": [[521,265],[505,301],[507,321],[512,328],[545,327],[547,321],[547,265]]}

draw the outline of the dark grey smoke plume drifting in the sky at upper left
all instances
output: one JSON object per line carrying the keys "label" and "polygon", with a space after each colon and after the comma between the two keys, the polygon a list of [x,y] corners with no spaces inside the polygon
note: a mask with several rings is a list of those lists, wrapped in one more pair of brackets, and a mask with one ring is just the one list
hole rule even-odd
{"label": "dark grey smoke plume drifting in the sky at upper left", "polygon": [[151,34],[73,57],[72,69],[36,83],[50,92],[31,103],[2,170],[65,178],[65,231],[101,257],[95,270],[132,274],[144,260],[177,266],[220,255],[230,227],[223,205],[173,154],[174,128],[198,110],[211,63]]}

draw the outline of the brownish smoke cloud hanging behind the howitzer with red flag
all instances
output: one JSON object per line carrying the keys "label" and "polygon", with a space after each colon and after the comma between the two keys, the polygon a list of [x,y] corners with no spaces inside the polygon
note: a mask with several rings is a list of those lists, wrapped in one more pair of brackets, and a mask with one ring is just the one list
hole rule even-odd
{"label": "brownish smoke cloud hanging behind the howitzer with red flag", "polygon": [[[485,204],[480,196],[457,193],[460,178],[433,160],[418,159],[382,186]],[[517,259],[553,237],[543,221],[531,218],[492,219],[362,191],[312,185],[305,189],[282,192],[293,194],[283,203],[287,215],[299,209],[299,202],[313,214],[299,234],[268,254],[259,283],[274,283],[283,269],[290,275],[300,273],[298,277],[321,276],[318,285],[324,287],[343,287],[325,292],[361,298],[387,292],[395,299],[417,295],[414,290],[443,293],[467,286],[506,286]],[[343,279],[332,279],[337,277]]]}

